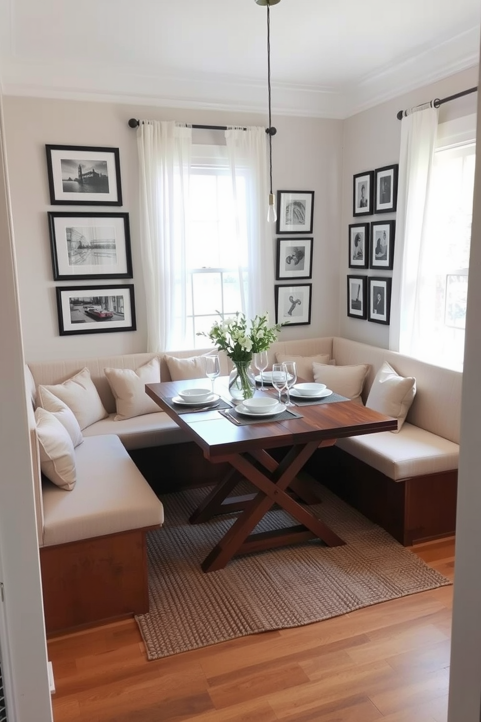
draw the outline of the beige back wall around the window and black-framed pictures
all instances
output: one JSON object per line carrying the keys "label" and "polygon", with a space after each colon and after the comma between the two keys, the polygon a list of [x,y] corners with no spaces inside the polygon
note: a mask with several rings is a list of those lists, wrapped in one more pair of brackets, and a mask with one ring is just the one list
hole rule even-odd
{"label": "beige back wall around the window and black-framed pictures", "polygon": [[[24,97],[6,97],[4,105],[25,357],[30,361],[145,350],[146,314],[138,242],[136,131],[128,128],[128,118],[175,119],[213,125],[264,125],[265,118]],[[310,326],[284,329],[282,338],[335,334],[339,316],[337,269],[340,248],[337,238],[340,234],[342,121],[281,117],[275,118],[273,123],[278,129],[273,139],[274,189],[313,190],[315,193],[312,323]],[[195,133],[197,142],[216,142],[216,134]],[[219,135],[222,137],[218,134],[217,138]],[[120,149],[123,206],[106,206],[105,210],[130,214],[137,331],[58,335],[57,284],[53,281],[50,261],[47,211],[82,212],[90,209],[99,212],[102,206],[50,205],[45,144],[105,145]],[[79,282],[79,285],[94,283]],[[76,285],[76,282],[58,282],[58,285]]]}

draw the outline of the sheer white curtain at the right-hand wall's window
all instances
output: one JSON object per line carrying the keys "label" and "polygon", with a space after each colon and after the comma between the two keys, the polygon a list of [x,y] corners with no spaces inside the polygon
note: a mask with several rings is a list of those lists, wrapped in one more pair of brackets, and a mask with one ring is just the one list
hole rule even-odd
{"label": "sheer white curtain at the right-hand wall's window", "polygon": [[401,123],[389,347],[419,357],[429,313],[423,279],[432,263],[427,241],[428,202],[438,110],[418,110]]}

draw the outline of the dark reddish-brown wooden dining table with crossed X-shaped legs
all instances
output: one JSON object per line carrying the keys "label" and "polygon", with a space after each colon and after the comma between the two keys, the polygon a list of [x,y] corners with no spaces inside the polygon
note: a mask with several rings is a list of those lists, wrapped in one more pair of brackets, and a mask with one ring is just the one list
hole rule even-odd
{"label": "dark reddish-brown wooden dining table with crossed X-shaped legs", "polygon": [[[215,406],[204,405],[194,412],[192,406],[172,403],[179,391],[205,384],[205,379],[198,379],[149,383],[145,387],[151,399],[200,446],[208,461],[230,465],[224,479],[213,487],[190,517],[190,523],[198,524],[219,514],[238,513],[229,531],[203,561],[203,571],[222,569],[238,554],[315,538],[322,539],[330,547],[344,544],[343,539],[309,508],[319,503],[319,497],[312,485],[298,477],[299,471],[319,447],[331,446],[338,438],[346,436],[394,430],[397,419],[345,400],[294,406],[292,410],[296,416],[270,417],[268,421],[262,418],[258,422],[254,419],[255,422],[244,425],[229,420],[224,415],[226,412]],[[227,378],[216,380],[216,392],[221,400],[231,403]],[[265,392],[256,391],[257,395],[260,393]],[[237,417],[237,414],[232,416]],[[280,452],[275,453],[275,449]],[[255,492],[229,496],[242,479],[248,479]],[[283,529],[254,532],[275,504],[298,523]]]}

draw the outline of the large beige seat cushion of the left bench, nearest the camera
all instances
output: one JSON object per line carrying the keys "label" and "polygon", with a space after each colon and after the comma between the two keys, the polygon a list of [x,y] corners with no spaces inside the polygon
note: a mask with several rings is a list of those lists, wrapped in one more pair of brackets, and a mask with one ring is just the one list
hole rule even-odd
{"label": "large beige seat cushion of the left bench, nearest the camera", "polygon": [[162,503],[118,436],[85,438],[75,456],[73,490],[43,482],[44,546],[163,523]]}

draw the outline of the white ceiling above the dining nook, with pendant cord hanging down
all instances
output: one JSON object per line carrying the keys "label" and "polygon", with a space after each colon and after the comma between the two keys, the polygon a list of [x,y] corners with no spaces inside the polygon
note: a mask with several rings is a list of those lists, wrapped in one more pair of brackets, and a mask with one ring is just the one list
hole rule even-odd
{"label": "white ceiling above the dining nook, with pendant cord hanging down", "polygon": [[[273,113],[344,118],[477,65],[480,0],[281,0]],[[265,112],[255,0],[0,0],[5,95]]]}

